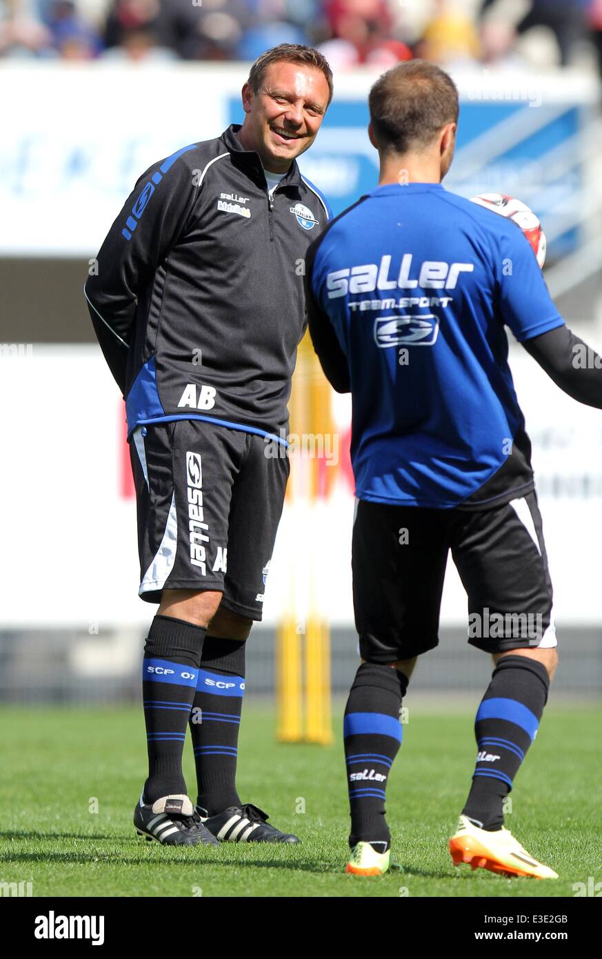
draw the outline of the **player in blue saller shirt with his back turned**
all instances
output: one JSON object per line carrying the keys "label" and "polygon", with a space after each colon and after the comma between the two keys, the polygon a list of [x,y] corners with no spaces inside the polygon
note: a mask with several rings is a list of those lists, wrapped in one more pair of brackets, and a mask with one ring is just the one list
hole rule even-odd
{"label": "player in blue saller shirt with his back turned", "polygon": [[503,827],[503,801],[558,660],[504,324],[558,386],[598,409],[602,371],[573,366],[581,340],[559,316],[521,229],[442,186],[458,120],[451,78],[424,61],[400,64],[374,84],[369,106],[379,185],[313,244],[306,276],[315,350],[331,384],[353,398],[362,663],[344,719],[347,871],[389,868],[384,799],[400,708],[416,658],[438,643],[452,550],[468,594],[469,643],[495,663],[476,713],[475,774],[450,840],[453,861],[556,877]]}

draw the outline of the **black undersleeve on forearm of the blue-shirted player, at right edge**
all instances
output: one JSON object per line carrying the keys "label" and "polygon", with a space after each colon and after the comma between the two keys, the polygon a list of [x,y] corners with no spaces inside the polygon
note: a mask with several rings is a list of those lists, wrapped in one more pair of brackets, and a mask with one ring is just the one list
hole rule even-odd
{"label": "black undersleeve on forearm of the blue-shirted player, at right edge", "polygon": [[602,409],[602,357],[567,326],[525,339],[522,345],[573,400]]}

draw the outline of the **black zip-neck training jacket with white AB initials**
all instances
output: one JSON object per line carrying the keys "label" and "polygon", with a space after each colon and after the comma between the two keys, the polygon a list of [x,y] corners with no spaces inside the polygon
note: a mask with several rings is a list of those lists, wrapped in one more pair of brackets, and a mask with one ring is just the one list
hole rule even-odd
{"label": "black zip-neck training jacket with white AB initials", "polygon": [[90,269],[84,294],[128,433],[177,418],[288,426],[306,251],[331,214],[296,162],[269,199],[239,129],[147,170]]}

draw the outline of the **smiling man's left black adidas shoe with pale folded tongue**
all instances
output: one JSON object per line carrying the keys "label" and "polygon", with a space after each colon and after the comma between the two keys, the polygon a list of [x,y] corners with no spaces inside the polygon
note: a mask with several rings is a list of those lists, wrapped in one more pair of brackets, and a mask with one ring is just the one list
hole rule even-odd
{"label": "smiling man's left black adidas shoe with pale folded tongue", "polygon": [[220,845],[202,825],[188,796],[163,796],[149,805],[141,796],[134,809],[134,826],[138,835],[165,846]]}

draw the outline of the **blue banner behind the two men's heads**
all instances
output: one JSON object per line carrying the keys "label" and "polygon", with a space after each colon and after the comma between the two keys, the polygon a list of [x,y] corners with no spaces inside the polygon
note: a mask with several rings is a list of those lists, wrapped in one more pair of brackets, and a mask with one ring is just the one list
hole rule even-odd
{"label": "blue banner behind the two men's heads", "polygon": [[[521,199],[540,217],[548,262],[577,246],[570,221],[583,182],[578,151],[580,107],[534,101],[460,105],[456,154],[445,185],[474,197],[504,193]],[[241,123],[238,98],[229,100],[229,123]],[[367,134],[368,105],[334,102],[315,145],[299,160],[301,172],[325,194],[335,215],[373,190],[379,158]]]}

